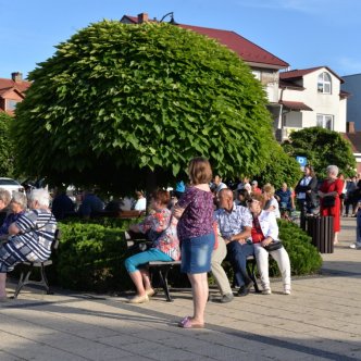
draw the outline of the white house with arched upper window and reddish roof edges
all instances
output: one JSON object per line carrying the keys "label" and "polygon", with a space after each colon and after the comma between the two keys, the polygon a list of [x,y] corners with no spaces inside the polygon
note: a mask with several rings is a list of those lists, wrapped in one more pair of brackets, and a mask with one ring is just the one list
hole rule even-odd
{"label": "white house with arched upper window and reddish roof edges", "polygon": [[278,140],[312,126],[346,133],[348,94],[340,89],[341,83],[327,66],[279,73]]}

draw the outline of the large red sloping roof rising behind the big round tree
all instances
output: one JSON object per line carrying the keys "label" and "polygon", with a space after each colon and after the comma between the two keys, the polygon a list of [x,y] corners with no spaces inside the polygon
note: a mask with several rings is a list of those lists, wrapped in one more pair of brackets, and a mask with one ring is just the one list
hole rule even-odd
{"label": "large red sloping roof rising behind the big round tree", "polygon": [[[126,18],[133,24],[138,24],[138,17],[136,16],[124,15],[122,20],[123,18]],[[235,32],[185,24],[176,25],[217,40],[236,52],[245,62],[252,63],[253,66],[259,65],[260,67],[264,67],[265,64],[272,69],[285,69],[289,66],[289,64],[282,59],[257,46],[254,42],[247,40]]]}

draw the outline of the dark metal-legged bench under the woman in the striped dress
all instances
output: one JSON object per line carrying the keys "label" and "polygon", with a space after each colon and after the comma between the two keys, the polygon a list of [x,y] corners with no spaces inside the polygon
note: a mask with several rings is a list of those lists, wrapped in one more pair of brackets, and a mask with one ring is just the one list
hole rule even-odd
{"label": "dark metal-legged bench under the woman in the striped dress", "polygon": [[[51,242],[51,251],[58,249],[59,239],[60,239],[60,229],[57,229],[54,238]],[[51,260],[41,261],[41,262],[25,261],[18,264],[22,266],[22,273],[20,275],[14,296],[12,298],[16,299],[22,288],[27,285],[43,287],[47,291],[47,295],[51,295],[48,278],[46,275],[46,267],[52,264]],[[30,279],[32,273],[36,269],[40,270],[40,281]]]}

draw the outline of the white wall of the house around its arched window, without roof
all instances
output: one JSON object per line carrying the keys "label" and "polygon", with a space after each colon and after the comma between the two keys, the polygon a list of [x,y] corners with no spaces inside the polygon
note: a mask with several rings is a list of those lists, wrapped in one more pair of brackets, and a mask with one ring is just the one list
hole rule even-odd
{"label": "white wall of the house around its arched window, without roof", "polygon": [[[318,114],[333,115],[335,132],[346,132],[346,104],[347,100],[339,98],[340,80],[332,73],[327,72],[332,79],[332,92],[322,94],[318,91],[318,77],[325,69],[320,69],[313,73],[303,76],[302,85],[303,91],[285,89],[283,91],[282,100],[299,101],[309,105],[312,111],[289,112],[285,114],[284,126],[291,126],[299,120],[299,114],[302,114],[302,127],[311,127],[318,125]],[[279,91],[281,94],[281,91]]]}

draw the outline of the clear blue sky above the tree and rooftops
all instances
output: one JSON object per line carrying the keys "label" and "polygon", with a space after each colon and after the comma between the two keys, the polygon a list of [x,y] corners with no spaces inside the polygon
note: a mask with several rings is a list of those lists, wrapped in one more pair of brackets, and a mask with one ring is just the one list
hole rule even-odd
{"label": "clear blue sky above the tree and rooftops", "polygon": [[361,0],[0,0],[0,77],[26,77],[91,23],[141,12],[158,20],[173,12],[180,24],[233,30],[290,70],[361,73]]}

